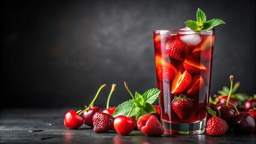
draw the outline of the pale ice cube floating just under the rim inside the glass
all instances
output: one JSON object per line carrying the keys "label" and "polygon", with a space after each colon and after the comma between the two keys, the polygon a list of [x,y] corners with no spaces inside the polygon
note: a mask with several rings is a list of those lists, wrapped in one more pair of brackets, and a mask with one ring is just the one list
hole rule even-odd
{"label": "pale ice cube floating just under the rim inside the glass", "polygon": [[187,46],[197,46],[201,42],[198,34],[183,35],[180,40],[187,44]]}

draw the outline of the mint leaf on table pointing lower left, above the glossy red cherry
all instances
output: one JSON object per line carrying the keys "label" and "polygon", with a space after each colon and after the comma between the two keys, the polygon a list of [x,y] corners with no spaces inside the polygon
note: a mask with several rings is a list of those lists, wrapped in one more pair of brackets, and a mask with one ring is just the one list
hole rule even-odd
{"label": "mint leaf on table pointing lower left, above the glossy red cherry", "polygon": [[127,116],[130,112],[130,109],[132,109],[132,105],[134,104],[134,100],[128,100],[124,101],[123,103],[119,104],[117,106],[117,109],[115,109],[115,112],[113,113],[113,117],[117,117],[119,115]]}

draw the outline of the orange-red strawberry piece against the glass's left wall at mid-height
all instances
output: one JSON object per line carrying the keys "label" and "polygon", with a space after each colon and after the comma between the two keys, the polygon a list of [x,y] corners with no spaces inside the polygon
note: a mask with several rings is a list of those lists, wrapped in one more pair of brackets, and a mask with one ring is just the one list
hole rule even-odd
{"label": "orange-red strawberry piece against the glass's left wall at mid-height", "polygon": [[155,59],[157,79],[171,82],[176,74],[176,68],[159,55],[156,55]]}

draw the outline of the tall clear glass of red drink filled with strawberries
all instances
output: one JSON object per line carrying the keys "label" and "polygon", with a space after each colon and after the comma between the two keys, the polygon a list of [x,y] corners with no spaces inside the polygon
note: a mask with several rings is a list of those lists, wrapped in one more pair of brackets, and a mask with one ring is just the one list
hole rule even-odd
{"label": "tall clear glass of red drink filled with strawberries", "polygon": [[[165,133],[203,133],[210,92],[214,30],[154,31],[153,38],[157,87],[161,90],[160,116]],[[180,103],[174,100],[175,97],[184,99]]]}

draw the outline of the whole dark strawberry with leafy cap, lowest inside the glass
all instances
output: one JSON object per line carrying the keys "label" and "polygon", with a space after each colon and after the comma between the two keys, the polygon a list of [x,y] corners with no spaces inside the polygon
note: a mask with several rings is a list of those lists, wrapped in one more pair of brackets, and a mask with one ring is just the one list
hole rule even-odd
{"label": "whole dark strawberry with leafy cap, lowest inside the glass", "polygon": [[171,102],[172,110],[180,119],[187,119],[193,107],[192,100],[186,98],[186,95],[181,94],[179,97],[174,97]]}

